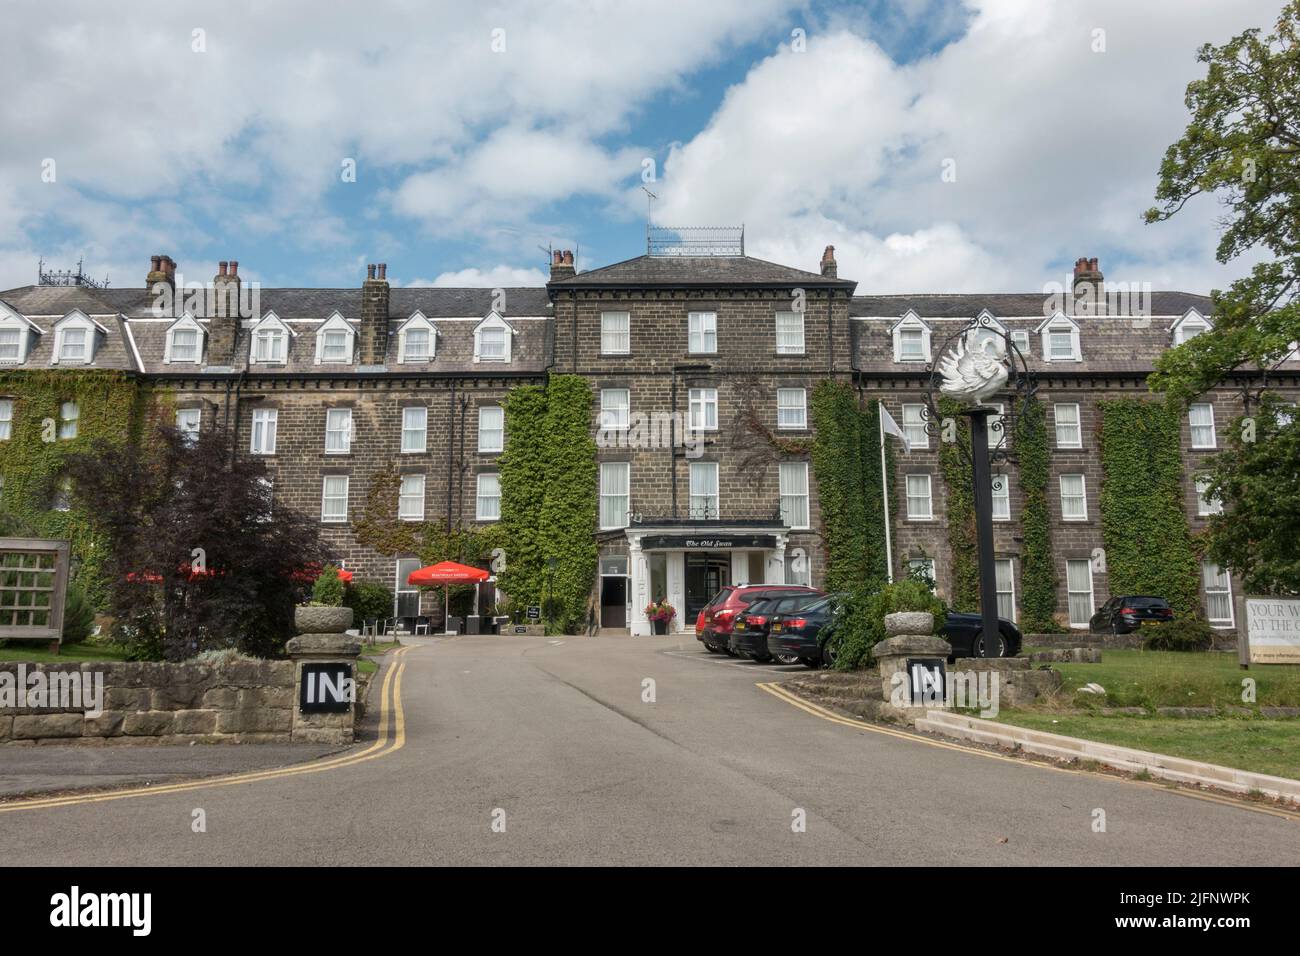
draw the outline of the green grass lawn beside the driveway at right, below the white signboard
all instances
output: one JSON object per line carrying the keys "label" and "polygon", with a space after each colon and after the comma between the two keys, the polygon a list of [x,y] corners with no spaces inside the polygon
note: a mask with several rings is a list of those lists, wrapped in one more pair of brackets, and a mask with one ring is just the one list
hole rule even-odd
{"label": "green grass lawn beside the driveway at right, below the white signboard", "polygon": [[[1134,747],[1174,757],[1300,779],[1300,718],[1258,715],[1160,717],[1156,708],[1300,706],[1300,667],[1254,665],[1243,671],[1236,654],[1164,650],[1102,650],[1101,663],[1052,665],[1065,678],[1062,696],[1037,708],[1004,710],[997,719],[1018,727]],[[1242,700],[1242,679],[1254,680],[1253,702]],[[1075,693],[1101,684],[1105,697]],[[1147,715],[1104,715],[1100,708],[1145,708]]]}

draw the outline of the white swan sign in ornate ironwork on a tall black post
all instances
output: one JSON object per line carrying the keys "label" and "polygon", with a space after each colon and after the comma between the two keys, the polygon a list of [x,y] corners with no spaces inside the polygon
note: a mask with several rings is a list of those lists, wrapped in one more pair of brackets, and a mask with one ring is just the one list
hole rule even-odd
{"label": "white swan sign in ornate ironwork on a tall black post", "polygon": [[[937,352],[930,371],[926,424],[928,433],[940,431],[941,416],[935,406],[935,393],[956,399],[966,407],[962,415],[970,419],[970,450],[958,441],[958,449],[968,457],[971,466],[972,498],[975,505],[976,559],[979,562],[979,601],[982,618],[980,657],[998,657],[1001,627],[997,615],[997,559],[993,550],[993,460],[1011,460],[1006,433],[1011,423],[1023,414],[1037,389],[1034,375],[1010,334],[994,325],[988,312],[982,312],[949,337]],[[994,395],[1009,394],[1004,414],[987,405]],[[1017,407],[1017,403],[1019,407]],[[997,416],[991,424],[989,419]],[[946,432],[948,429],[942,429]],[[989,447],[989,432],[998,433],[998,441]],[[956,436],[941,433],[941,440]]]}

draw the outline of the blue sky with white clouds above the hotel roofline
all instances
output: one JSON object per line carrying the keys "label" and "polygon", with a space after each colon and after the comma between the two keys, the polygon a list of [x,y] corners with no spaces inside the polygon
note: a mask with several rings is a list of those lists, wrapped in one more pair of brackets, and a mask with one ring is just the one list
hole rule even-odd
{"label": "blue sky with white clouds above the hotel roofline", "polygon": [[160,252],[192,280],[238,259],[265,285],[351,286],[367,261],[533,284],[538,246],[644,251],[650,159],[660,221],[744,222],[750,254],[809,269],[833,243],[862,293],[1035,290],[1080,255],[1208,291],[1248,265],[1214,263],[1213,204],[1140,215],[1197,46],[1279,9],[10,4],[0,289],[42,256],[142,285]]}

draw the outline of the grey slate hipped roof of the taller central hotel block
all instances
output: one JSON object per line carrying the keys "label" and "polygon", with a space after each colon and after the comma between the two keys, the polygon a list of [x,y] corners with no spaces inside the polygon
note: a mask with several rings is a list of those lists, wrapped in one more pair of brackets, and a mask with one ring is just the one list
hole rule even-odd
{"label": "grey slate hipped roof of the taller central hotel block", "polygon": [[554,280],[550,289],[641,287],[641,286],[840,286],[854,289],[848,278],[827,278],[816,272],[793,269],[753,256],[637,256],[599,269],[588,269]]}

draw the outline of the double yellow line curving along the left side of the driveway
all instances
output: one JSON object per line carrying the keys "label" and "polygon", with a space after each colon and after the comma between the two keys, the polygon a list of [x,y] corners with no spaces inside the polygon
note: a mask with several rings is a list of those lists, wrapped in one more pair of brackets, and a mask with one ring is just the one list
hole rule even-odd
{"label": "double yellow line curving along the left side of the driveway", "polygon": [[298,777],[299,774],[318,774],[325,770],[338,770],[341,767],[364,763],[378,757],[387,757],[390,753],[400,750],[406,745],[406,711],[402,709],[402,675],[406,671],[404,657],[416,645],[407,645],[389,654],[391,663],[384,675],[380,704],[380,736],[378,739],[358,753],[348,753],[342,757],[333,757],[313,763],[302,763],[291,767],[276,770],[255,770],[246,774],[231,774],[229,777],[213,777],[188,783],[172,783],[165,787],[134,787],[130,790],[116,790],[105,793],[83,793],[57,797],[34,797],[31,800],[16,800],[0,804],[0,813],[14,810],[43,810],[55,806],[79,806],[82,804],[100,804],[109,800],[126,800],[138,796],[159,796],[161,793],[185,793],[191,790],[205,787],[234,787],[240,783],[257,783],[259,780],[276,780],[283,777]]}

